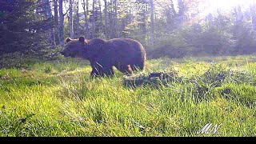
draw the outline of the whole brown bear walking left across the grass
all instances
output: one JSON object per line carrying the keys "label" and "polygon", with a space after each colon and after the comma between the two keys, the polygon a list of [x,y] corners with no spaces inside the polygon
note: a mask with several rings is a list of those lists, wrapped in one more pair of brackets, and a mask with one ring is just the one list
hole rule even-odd
{"label": "whole brown bear walking left across the grass", "polygon": [[66,42],[61,54],[65,57],[89,60],[92,67],[91,76],[113,77],[113,66],[123,74],[132,74],[133,71],[145,69],[146,51],[140,42],[133,39],[87,40],[80,37],[67,38]]}

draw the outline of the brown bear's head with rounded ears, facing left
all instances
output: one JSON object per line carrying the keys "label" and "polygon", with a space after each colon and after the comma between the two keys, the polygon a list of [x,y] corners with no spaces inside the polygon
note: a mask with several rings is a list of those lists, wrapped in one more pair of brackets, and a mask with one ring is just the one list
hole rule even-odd
{"label": "brown bear's head with rounded ears, facing left", "polygon": [[86,46],[88,44],[84,37],[78,39],[66,38],[66,46],[60,53],[65,57],[86,58]]}

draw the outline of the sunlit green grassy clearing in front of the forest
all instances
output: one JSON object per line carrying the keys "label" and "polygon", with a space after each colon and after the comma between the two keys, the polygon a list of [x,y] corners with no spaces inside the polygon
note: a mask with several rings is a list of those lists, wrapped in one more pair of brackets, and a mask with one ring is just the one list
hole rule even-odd
{"label": "sunlit green grassy clearing in front of the forest", "polygon": [[[255,136],[255,55],[147,62],[164,70],[186,81],[130,88],[117,70],[90,79],[81,59],[2,69],[0,136]],[[196,133],[207,123],[218,134]]]}

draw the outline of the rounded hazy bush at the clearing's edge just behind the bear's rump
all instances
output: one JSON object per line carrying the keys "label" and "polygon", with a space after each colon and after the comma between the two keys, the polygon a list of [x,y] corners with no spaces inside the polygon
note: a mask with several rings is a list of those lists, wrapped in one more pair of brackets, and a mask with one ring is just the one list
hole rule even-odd
{"label": "rounded hazy bush at the clearing's edge just behind the bear's rump", "polygon": [[229,55],[237,45],[233,34],[214,27],[198,30],[198,26],[186,27],[156,41],[154,48],[148,50],[149,58]]}

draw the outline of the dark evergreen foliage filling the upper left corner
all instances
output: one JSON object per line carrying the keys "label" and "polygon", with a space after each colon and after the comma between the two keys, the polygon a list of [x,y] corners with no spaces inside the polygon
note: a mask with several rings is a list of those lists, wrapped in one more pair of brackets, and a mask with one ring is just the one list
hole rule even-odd
{"label": "dark evergreen foliage filling the upper left corner", "polygon": [[0,55],[49,45],[47,30],[52,28],[52,19],[38,12],[43,5],[35,0],[3,0],[0,6]]}

